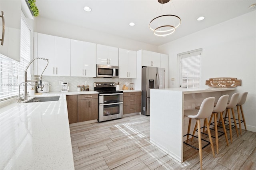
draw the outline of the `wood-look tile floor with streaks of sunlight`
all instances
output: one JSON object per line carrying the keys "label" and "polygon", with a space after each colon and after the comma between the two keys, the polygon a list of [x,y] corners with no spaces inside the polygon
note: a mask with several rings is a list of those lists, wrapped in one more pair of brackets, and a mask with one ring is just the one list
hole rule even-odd
{"label": "wood-look tile floor with streaks of sunlight", "polygon": [[[135,115],[70,127],[75,169],[200,169],[198,150],[184,144],[184,162],[180,163],[151,144],[149,124],[150,116]],[[219,138],[219,154],[215,158],[210,145],[203,149],[204,170],[256,170],[256,133],[242,130],[242,136],[237,137],[233,129],[232,134],[233,143],[228,138],[229,146],[224,135]],[[216,150],[214,138],[213,142]],[[197,138],[192,143],[197,144]]]}

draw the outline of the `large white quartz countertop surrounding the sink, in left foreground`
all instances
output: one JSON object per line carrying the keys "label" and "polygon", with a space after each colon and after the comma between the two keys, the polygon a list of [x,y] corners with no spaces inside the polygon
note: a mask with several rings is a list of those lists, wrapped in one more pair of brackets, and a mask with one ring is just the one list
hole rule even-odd
{"label": "large white quartz countertop surrounding the sink, in left foreground", "polygon": [[1,170],[73,170],[66,93],[58,101],[0,108]]}

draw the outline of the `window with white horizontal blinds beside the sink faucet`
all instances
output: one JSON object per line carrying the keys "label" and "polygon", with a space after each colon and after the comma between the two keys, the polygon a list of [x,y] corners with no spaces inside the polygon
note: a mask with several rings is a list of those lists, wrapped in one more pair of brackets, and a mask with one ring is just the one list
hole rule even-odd
{"label": "window with white horizontal blinds beside the sink faucet", "polygon": [[12,98],[19,93],[19,84],[24,82],[24,71],[30,61],[30,34],[30,29],[21,17],[20,62],[0,54],[0,100]]}

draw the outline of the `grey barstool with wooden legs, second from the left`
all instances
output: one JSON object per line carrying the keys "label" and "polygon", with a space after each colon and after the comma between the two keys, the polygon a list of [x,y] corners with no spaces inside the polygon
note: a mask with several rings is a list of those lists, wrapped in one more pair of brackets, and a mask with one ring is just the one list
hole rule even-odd
{"label": "grey barstool with wooden legs, second from the left", "polygon": [[[224,120],[223,120],[223,111],[226,109],[227,107],[227,104],[228,104],[228,94],[226,95],[223,95],[219,98],[216,106],[213,108],[213,111],[212,111],[212,116],[210,118],[210,122],[209,122],[209,126],[212,122],[212,117],[214,116],[214,130],[215,130],[215,140],[216,140],[216,151],[217,151],[217,154],[219,154],[219,142],[218,142],[218,128],[217,128],[217,118],[218,118],[218,113],[220,113],[220,119],[222,121],[222,127],[223,127],[223,131],[224,131],[224,135],[225,135],[225,138],[226,138],[226,143],[227,143],[227,146],[228,146],[228,136],[227,136],[227,132],[226,132],[226,128],[225,128],[225,124],[224,124]],[[196,106],[196,109],[200,109],[200,106]],[[204,125],[205,126],[205,125]],[[194,128],[194,131],[193,131],[193,135],[195,134],[196,132],[196,126]],[[223,132],[222,134],[223,135]],[[220,136],[221,136],[220,135]]]}

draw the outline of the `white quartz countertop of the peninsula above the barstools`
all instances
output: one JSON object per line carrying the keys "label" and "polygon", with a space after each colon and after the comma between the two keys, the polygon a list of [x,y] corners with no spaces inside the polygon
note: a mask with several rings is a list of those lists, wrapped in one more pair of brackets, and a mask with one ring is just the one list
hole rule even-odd
{"label": "white quartz countertop of the peninsula above the barstools", "polygon": [[182,92],[183,94],[190,94],[190,93],[219,92],[219,91],[236,90],[236,88],[200,88],[200,89],[160,88],[160,89],[151,89],[151,90],[176,91],[176,92]]}

